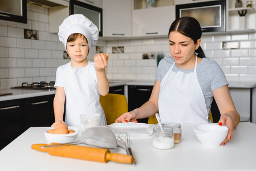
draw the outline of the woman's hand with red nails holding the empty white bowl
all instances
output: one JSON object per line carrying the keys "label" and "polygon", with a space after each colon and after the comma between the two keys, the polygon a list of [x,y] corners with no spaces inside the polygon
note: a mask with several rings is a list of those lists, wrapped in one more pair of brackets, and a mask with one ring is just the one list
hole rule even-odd
{"label": "woman's hand with red nails holding the empty white bowl", "polygon": [[230,117],[229,114],[224,113],[221,115],[221,118],[218,122],[220,126],[226,125],[227,128],[229,128],[229,132],[227,132],[227,137],[226,139],[221,143],[222,145],[225,145],[227,141],[231,139],[231,133],[234,131],[234,124],[233,124],[232,117]]}

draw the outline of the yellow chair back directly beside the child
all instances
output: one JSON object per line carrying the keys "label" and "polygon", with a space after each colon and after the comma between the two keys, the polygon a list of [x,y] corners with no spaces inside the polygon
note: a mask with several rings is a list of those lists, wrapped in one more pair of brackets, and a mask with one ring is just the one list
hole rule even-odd
{"label": "yellow chair back directly beside the child", "polygon": [[128,112],[127,98],[124,95],[108,93],[100,96],[100,103],[108,125],[115,123],[119,116]]}

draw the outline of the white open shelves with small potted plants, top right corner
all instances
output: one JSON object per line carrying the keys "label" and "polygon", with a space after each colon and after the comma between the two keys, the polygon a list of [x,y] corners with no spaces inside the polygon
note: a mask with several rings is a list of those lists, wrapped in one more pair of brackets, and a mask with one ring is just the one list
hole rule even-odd
{"label": "white open shelves with small potted plants, top right corner", "polygon": [[[242,0],[242,7],[235,8],[235,0],[227,0],[226,6],[226,31],[252,32],[255,31],[255,0],[253,7],[246,7],[246,0]],[[238,11],[247,10],[245,15],[245,25],[240,26],[240,18]]]}

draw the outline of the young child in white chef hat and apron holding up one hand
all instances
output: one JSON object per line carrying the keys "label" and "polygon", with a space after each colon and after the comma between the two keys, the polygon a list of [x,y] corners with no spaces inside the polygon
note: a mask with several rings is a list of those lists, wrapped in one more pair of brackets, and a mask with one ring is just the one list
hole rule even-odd
{"label": "young child in white chef hat and apron holding up one hand", "polygon": [[[54,97],[54,127],[65,123],[80,127],[80,117],[84,113],[99,113],[100,125],[106,125],[100,95],[107,95],[109,83],[105,75],[108,54],[97,54],[94,63],[87,60],[91,46],[99,38],[97,27],[82,14],[70,15],[59,26],[60,41],[64,44],[71,62],[58,67],[56,71],[56,93]],[[65,102],[66,101],[66,102]]]}

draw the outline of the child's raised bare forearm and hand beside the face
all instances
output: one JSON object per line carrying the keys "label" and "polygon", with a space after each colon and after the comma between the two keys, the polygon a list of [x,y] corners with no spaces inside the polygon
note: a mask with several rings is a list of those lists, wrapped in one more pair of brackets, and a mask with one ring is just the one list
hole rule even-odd
{"label": "child's raised bare forearm and hand beside the face", "polygon": [[97,86],[100,95],[105,96],[109,91],[109,82],[105,74],[105,67],[108,66],[108,54],[97,54],[94,56]]}

